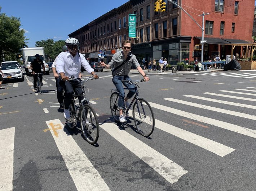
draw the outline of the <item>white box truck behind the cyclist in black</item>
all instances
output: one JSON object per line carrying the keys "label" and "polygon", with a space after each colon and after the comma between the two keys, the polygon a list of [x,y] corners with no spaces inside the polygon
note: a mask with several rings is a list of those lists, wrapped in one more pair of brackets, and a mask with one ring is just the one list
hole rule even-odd
{"label": "white box truck behind the cyclist in black", "polygon": [[[44,62],[45,73],[49,75],[49,66],[45,63],[44,47],[22,48],[21,53],[27,75],[30,75],[32,73],[32,70],[30,68],[30,62],[36,59],[36,54],[40,55],[40,59]],[[41,67],[41,71],[44,71],[43,67]]]}

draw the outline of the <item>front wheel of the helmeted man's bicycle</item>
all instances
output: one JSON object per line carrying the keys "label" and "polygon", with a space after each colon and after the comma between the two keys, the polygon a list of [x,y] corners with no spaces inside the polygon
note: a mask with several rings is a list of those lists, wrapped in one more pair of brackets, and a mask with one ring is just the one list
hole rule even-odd
{"label": "front wheel of the helmeted man's bicycle", "polygon": [[100,128],[92,106],[84,104],[84,110],[81,110],[80,114],[80,124],[85,140],[92,145],[95,144],[99,138]]}

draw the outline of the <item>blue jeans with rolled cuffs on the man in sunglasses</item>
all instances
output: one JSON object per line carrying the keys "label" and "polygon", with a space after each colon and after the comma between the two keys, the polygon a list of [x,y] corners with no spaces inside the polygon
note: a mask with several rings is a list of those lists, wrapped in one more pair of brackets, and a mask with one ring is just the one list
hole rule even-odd
{"label": "blue jeans with rolled cuffs on the man in sunglasses", "polygon": [[[124,108],[124,87],[123,87],[123,83],[122,83],[121,80],[131,80],[131,78],[128,75],[126,75],[126,76],[115,75],[112,78],[112,82],[113,82],[113,84],[115,85],[116,89],[119,92],[118,108],[122,110]],[[124,83],[124,86],[127,87],[127,88],[134,88],[134,84]],[[134,89],[129,89],[127,97],[132,98],[134,94],[135,94],[135,90]]]}

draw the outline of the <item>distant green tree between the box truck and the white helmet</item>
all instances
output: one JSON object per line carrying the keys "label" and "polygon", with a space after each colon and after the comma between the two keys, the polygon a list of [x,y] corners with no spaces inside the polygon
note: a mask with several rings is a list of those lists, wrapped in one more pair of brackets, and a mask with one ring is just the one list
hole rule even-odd
{"label": "distant green tree between the box truck and the white helmet", "polygon": [[53,41],[53,39],[36,41],[35,47],[44,47],[45,55],[48,59],[54,59],[62,52],[62,47],[65,45],[65,41]]}

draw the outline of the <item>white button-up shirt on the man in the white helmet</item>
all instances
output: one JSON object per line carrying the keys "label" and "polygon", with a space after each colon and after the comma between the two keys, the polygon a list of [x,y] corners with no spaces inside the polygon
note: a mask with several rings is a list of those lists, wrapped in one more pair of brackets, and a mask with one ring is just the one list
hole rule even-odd
{"label": "white button-up shirt on the man in the white helmet", "polygon": [[56,61],[56,70],[57,73],[65,73],[65,76],[70,77],[74,75],[75,78],[78,78],[81,65],[89,74],[94,71],[81,53],[79,53],[79,55],[76,53],[75,57],[73,57],[69,51],[66,51],[59,53]]}

